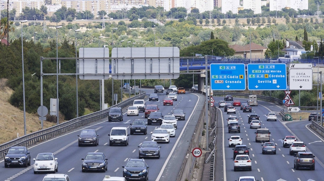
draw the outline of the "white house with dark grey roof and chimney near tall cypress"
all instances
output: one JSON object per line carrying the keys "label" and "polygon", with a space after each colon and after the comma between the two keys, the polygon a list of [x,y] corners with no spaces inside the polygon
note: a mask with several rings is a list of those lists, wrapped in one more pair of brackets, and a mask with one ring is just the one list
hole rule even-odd
{"label": "white house with dark grey roof and chimney near tall cypress", "polygon": [[302,45],[302,41],[286,40],[286,46],[281,51],[285,52],[286,58],[298,59],[300,58],[302,51],[305,51],[305,48]]}

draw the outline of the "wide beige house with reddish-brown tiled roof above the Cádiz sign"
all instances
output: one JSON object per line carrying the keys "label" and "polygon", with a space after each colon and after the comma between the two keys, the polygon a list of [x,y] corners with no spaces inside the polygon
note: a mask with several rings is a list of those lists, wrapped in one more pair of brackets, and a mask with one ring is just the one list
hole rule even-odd
{"label": "wide beige house with reddish-brown tiled roof above the C\u00e1diz sign", "polygon": [[250,51],[250,44],[247,44],[245,46],[235,44],[229,47],[235,50],[235,55],[240,55],[246,59],[250,59],[250,52],[251,52],[252,59],[263,59],[264,52],[267,50],[266,47],[263,47],[253,42],[251,43],[251,51]]}

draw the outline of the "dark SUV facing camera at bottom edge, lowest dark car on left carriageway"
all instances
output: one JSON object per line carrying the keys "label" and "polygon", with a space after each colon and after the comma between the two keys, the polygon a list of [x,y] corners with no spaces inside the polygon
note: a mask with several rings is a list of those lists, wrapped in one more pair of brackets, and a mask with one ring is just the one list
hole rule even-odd
{"label": "dark SUV facing camera at bottom edge, lowest dark car on left carriageway", "polygon": [[122,176],[126,178],[126,180],[136,179],[141,181],[146,181],[148,177],[148,169],[145,160],[129,158],[125,164],[125,166],[121,166],[124,168],[122,172]]}

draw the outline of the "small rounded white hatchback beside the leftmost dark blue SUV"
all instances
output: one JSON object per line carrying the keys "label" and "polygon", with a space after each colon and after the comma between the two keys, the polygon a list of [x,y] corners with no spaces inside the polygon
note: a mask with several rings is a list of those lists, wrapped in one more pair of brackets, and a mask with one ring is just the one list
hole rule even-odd
{"label": "small rounded white hatchback beside the leftmost dark blue SUV", "polygon": [[34,174],[38,172],[57,172],[58,164],[57,158],[55,158],[53,153],[39,153],[36,159],[33,159],[34,163]]}

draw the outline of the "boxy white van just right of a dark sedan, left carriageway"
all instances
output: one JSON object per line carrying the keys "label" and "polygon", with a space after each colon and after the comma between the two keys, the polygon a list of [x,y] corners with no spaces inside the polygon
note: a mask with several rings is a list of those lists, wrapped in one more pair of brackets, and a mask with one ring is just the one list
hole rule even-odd
{"label": "boxy white van just right of a dark sedan, left carriageway", "polygon": [[126,127],[112,127],[109,139],[109,146],[112,146],[114,144],[119,144],[119,145],[128,145],[128,130]]}

